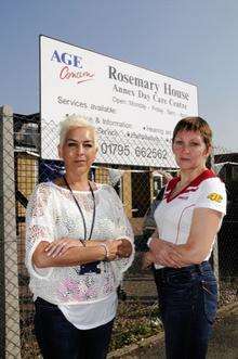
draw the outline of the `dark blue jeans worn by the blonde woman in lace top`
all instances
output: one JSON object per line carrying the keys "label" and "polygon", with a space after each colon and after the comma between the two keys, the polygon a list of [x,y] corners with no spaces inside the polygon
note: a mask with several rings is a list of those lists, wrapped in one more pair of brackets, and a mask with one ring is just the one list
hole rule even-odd
{"label": "dark blue jeans worn by the blonde woman in lace top", "polygon": [[105,359],[114,320],[104,325],[78,330],[56,305],[35,302],[35,330],[44,359]]}

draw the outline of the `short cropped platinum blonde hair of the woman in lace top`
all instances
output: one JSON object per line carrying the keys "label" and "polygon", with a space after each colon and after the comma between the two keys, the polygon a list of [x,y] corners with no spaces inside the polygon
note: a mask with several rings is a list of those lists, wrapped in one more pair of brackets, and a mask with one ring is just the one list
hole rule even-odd
{"label": "short cropped platinum blonde hair of the woman in lace top", "polygon": [[67,132],[78,127],[91,129],[93,131],[95,146],[98,148],[98,136],[95,127],[90,124],[88,119],[76,114],[66,116],[65,119],[60,123],[60,146],[64,144]]}

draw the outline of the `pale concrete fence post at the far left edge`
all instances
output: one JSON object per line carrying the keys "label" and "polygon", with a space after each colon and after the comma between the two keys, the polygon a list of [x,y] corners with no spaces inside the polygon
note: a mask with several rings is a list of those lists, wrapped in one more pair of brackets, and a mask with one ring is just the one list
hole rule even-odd
{"label": "pale concrete fence post at the far left edge", "polygon": [[13,111],[0,107],[1,358],[21,358]]}

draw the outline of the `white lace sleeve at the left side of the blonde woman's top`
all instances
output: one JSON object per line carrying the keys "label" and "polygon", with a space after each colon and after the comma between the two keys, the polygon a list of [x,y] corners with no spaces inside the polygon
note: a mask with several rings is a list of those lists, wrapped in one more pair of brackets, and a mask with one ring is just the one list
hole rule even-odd
{"label": "white lace sleeve at the left side of the blonde woman's top", "polygon": [[41,241],[54,240],[53,213],[50,187],[39,184],[31,194],[26,211],[26,259],[25,264],[30,274],[49,277],[52,269],[39,269],[32,265],[32,254]]}

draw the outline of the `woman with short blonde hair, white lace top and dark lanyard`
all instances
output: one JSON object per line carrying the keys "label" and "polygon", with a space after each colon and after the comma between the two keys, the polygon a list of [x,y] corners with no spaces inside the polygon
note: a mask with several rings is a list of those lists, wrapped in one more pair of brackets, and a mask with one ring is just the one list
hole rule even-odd
{"label": "woman with short blonde hair, white lace top and dark lanyard", "polygon": [[133,234],[115,190],[90,181],[95,128],[61,123],[65,176],[37,185],[27,208],[26,266],[43,358],[106,358],[117,287],[133,259]]}

